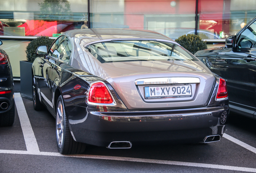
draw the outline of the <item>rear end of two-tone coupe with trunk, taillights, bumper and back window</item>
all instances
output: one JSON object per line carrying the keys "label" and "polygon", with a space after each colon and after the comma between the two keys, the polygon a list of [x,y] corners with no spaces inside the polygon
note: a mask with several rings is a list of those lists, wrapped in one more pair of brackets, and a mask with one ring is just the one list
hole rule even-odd
{"label": "rear end of two-tone coupe with trunk, taillights, bumper and back window", "polygon": [[102,80],[81,77],[91,84],[88,106],[69,117],[76,141],[129,148],[221,139],[229,114],[225,80],[175,42],[115,40],[85,52],[102,63]]}

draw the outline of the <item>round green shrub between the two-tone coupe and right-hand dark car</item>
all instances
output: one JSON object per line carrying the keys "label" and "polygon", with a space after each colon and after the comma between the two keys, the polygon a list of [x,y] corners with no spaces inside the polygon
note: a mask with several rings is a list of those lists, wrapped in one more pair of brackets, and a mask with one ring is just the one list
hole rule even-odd
{"label": "round green shrub between the two-tone coupe and right-hand dark car", "polygon": [[202,41],[200,36],[195,34],[180,36],[175,40],[175,42],[178,42],[182,47],[190,51],[192,54],[195,54],[198,50],[207,48],[206,42]]}

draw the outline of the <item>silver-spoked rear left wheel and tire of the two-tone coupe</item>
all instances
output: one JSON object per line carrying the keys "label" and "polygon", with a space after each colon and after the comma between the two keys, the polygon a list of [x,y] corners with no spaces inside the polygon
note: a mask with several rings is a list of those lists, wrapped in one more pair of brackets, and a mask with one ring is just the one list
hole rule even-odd
{"label": "silver-spoked rear left wheel and tire of the two-tone coupe", "polygon": [[56,108],[56,142],[61,154],[79,154],[85,151],[85,143],[74,141],[70,133],[61,95],[58,98]]}

